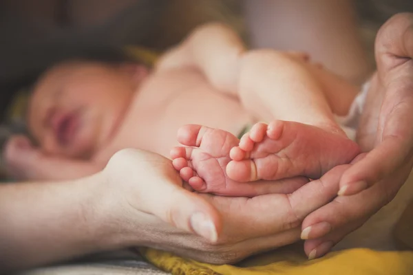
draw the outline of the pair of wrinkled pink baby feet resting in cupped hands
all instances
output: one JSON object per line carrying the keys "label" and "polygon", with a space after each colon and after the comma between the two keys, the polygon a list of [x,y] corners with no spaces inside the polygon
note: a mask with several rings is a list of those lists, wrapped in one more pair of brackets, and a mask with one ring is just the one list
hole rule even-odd
{"label": "pair of wrinkled pink baby feet resting in cupped hands", "polygon": [[241,140],[226,131],[186,125],[178,131],[178,142],[184,146],[171,150],[172,163],[193,189],[248,197],[293,192],[306,177],[319,178],[359,153],[341,133],[280,120],[255,124]]}

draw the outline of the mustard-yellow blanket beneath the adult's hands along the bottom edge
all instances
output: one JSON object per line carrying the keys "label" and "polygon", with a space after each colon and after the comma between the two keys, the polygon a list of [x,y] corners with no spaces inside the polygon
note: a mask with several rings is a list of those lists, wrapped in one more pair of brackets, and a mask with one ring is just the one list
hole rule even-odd
{"label": "mustard-yellow blanket beneath the adult's hands along the bottom edge", "polygon": [[297,246],[255,256],[240,265],[209,265],[168,252],[145,249],[151,263],[172,274],[187,275],[408,275],[413,274],[413,252],[377,252],[368,249],[333,252],[308,261]]}

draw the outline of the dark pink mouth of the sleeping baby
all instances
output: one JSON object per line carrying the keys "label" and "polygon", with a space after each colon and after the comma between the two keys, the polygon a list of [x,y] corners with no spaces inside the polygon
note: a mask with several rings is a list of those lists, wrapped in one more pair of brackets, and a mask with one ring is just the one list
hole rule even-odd
{"label": "dark pink mouth of the sleeping baby", "polygon": [[65,146],[70,144],[76,136],[78,130],[78,115],[76,113],[55,114],[52,118],[52,125],[56,140]]}

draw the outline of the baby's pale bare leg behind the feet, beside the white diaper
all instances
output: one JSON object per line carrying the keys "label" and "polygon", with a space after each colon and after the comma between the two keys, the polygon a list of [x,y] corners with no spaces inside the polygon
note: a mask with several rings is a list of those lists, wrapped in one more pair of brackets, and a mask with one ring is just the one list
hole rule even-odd
{"label": "baby's pale bare leg behind the feet, beside the white diaper", "polygon": [[282,52],[244,54],[240,98],[261,120],[290,120],[315,126],[333,124],[319,79],[304,61]]}

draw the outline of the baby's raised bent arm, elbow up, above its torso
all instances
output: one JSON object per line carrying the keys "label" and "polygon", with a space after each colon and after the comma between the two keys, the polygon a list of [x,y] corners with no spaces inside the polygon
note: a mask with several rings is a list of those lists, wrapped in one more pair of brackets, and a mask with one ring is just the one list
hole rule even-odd
{"label": "baby's raised bent arm, elbow up, above its torso", "polygon": [[193,67],[218,90],[237,96],[240,56],[245,52],[239,36],[220,23],[196,28],[180,45],[161,56],[156,70]]}

